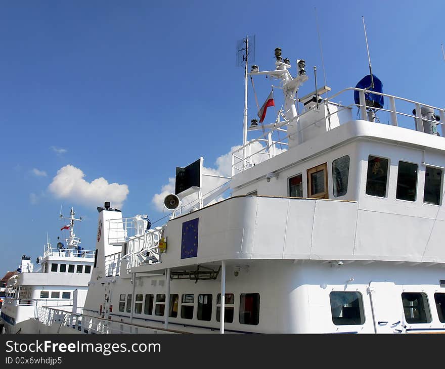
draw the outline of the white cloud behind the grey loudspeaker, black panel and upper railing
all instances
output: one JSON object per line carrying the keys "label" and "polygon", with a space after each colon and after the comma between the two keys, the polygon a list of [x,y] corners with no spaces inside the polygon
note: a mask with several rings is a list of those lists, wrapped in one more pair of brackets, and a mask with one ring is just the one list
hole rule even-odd
{"label": "white cloud behind the grey loudspeaker, black panel and upper railing", "polygon": [[[203,174],[213,174],[213,175],[220,175],[220,176],[224,176],[224,177],[231,177],[232,176],[232,153],[239,150],[240,148],[241,148],[241,146],[234,146],[230,149],[230,151],[227,154],[219,156],[215,162],[216,168],[204,167]],[[260,143],[254,142],[251,145],[250,152],[252,154],[254,154],[262,149],[263,149],[263,146]],[[282,151],[283,150],[277,148],[277,154],[279,154]],[[240,153],[238,153],[238,156],[241,157],[242,155],[239,155],[239,154],[242,154],[242,151]],[[269,158],[268,155],[255,154],[252,156],[250,162],[252,164],[253,163],[258,164],[268,158]],[[239,165],[241,165],[241,164],[239,164]],[[211,192],[212,190],[218,188],[219,186],[226,183],[227,181],[228,181],[228,179],[225,179],[225,178],[215,178],[215,177],[203,176],[203,179],[202,179],[202,194],[203,194],[203,196],[205,196],[208,192]],[[167,196],[168,194],[171,194],[171,193],[174,193],[174,178],[168,178],[168,183],[164,184],[162,186],[161,192],[159,194],[154,195],[152,198],[152,203],[155,205],[155,207],[158,211],[162,211],[164,209],[164,198],[165,198],[165,196]],[[216,200],[212,201],[211,203],[220,201],[222,199],[224,199],[224,198],[219,197]],[[192,206],[197,204],[197,200],[198,200],[197,194],[189,195],[189,196],[185,197],[184,199],[182,199],[182,204],[183,204],[183,206],[190,204],[189,208],[191,208]],[[187,208],[185,208],[183,210],[187,211]]]}

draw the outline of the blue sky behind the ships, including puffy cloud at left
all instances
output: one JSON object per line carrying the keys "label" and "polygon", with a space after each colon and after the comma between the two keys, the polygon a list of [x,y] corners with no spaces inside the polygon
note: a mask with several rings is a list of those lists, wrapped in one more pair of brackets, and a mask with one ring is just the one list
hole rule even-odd
{"label": "blue sky behind the ships, including puffy cloud at left", "polygon": [[[316,6],[333,92],[368,74],[365,16],[384,92],[444,105],[442,1]],[[323,83],[313,3],[3,2],[0,274],[15,270],[22,254],[41,255],[47,232],[57,243],[61,206],[64,215],[74,206],[83,217],[77,236],[94,249],[100,189],[121,202],[124,216],[155,221],[166,213],[153,196],[168,191],[176,166],[203,156],[204,166],[221,172],[217,159],[242,142],[244,81],[235,49],[246,34],[256,36],[260,69],[274,68],[281,47],[293,75],[295,60],[306,60],[310,79],[300,94],[314,90],[315,65]],[[261,105],[270,82],[255,80],[255,87]],[[249,94],[250,120],[256,106]],[[92,183],[97,178],[104,179]]]}

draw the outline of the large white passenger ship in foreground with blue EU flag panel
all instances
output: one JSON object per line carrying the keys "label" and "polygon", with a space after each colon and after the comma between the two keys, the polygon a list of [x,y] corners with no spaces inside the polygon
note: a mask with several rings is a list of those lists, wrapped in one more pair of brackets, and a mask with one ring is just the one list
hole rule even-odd
{"label": "large white passenger ship in foreground with blue EU flag panel", "polygon": [[[292,76],[275,56],[273,70],[246,63],[244,145],[224,186],[202,194],[201,158],[176,168],[162,226],[98,208],[85,307],[64,332],[445,332],[445,111],[383,93],[372,74],[298,99],[304,61]],[[258,75],[284,104],[263,124],[270,95],[248,128]],[[41,307],[40,324],[60,329],[61,313]]]}

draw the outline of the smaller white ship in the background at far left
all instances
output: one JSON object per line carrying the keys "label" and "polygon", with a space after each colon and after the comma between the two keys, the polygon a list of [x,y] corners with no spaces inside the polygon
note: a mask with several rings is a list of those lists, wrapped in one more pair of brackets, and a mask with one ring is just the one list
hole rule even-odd
{"label": "smaller white ship in the background at far left", "polygon": [[[0,333],[40,333],[38,311],[41,306],[57,307],[81,313],[86,297],[87,284],[91,279],[95,252],[84,250],[74,233],[74,217],[71,209],[69,223],[61,228],[69,231],[66,243],[58,242],[53,248],[47,240],[43,256],[37,258],[40,265],[34,270],[31,258],[23,255],[18,274],[12,276],[6,286],[6,296],[1,312]],[[41,326],[41,327],[40,327]],[[72,327],[78,329],[80,327]],[[56,330],[57,332],[57,330]]]}

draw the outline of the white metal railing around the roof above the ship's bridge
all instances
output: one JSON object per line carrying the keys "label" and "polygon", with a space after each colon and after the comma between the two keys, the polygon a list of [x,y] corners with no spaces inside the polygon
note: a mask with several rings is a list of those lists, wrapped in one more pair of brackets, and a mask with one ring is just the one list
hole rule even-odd
{"label": "white metal railing around the roof above the ship's bridge", "polygon": [[[434,129],[436,129],[437,126],[441,126],[442,127],[442,136],[445,136],[445,128],[443,127],[443,125],[445,124],[445,110],[443,108],[438,108],[438,107],[434,107],[431,105],[422,104],[422,103],[419,103],[414,100],[409,100],[409,99],[400,98],[400,97],[393,96],[393,95],[378,93],[375,91],[371,92],[371,91],[367,91],[362,88],[348,87],[348,88],[345,88],[345,89],[339,91],[337,94],[335,94],[327,99],[323,99],[323,101],[320,105],[322,106],[322,104],[327,104],[328,102],[334,103],[334,99],[338,100],[338,98],[341,97],[341,95],[348,93],[348,92],[354,93],[354,91],[359,92],[360,104],[354,103],[354,104],[344,106],[341,104],[341,101],[339,101],[338,103],[335,102],[335,104],[338,105],[338,109],[334,113],[331,114],[328,110],[327,116],[322,117],[322,118],[312,122],[311,124],[305,126],[304,128],[297,130],[296,132],[287,134],[283,139],[281,139],[279,141],[272,140],[272,136],[275,132],[278,132],[278,131],[287,132],[286,130],[282,129],[283,126],[285,126],[286,124],[298,124],[298,121],[301,117],[303,117],[305,114],[308,114],[310,111],[312,111],[312,110],[306,110],[305,112],[299,114],[298,116],[296,116],[295,118],[293,118],[291,120],[278,122],[278,124],[275,124],[272,126],[272,128],[270,129],[269,132],[263,133],[260,137],[258,137],[258,139],[251,140],[246,145],[235,150],[232,153],[232,176],[252,167],[254,164],[258,164],[262,161],[268,160],[276,155],[279,155],[284,150],[278,151],[277,145],[287,146],[288,142],[286,142],[286,140],[288,140],[289,137],[291,137],[292,135],[298,134],[301,131],[303,131],[304,129],[309,128],[310,126],[317,125],[318,123],[322,122],[323,120],[329,119],[330,117],[338,115],[338,113],[340,113],[346,109],[351,109],[353,107],[357,107],[359,109],[361,120],[368,120],[368,111],[372,109],[374,112],[386,112],[388,114],[387,124],[390,124],[393,126],[400,126],[400,119],[405,119],[405,122],[406,122],[407,119],[409,118],[409,120],[411,121],[411,124],[414,124],[414,126],[406,127],[406,128],[417,130],[419,132],[425,132],[424,126],[430,125],[432,127],[433,131],[427,132],[427,133],[434,134],[435,133]],[[378,95],[378,96],[385,97],[389,101],[389,109],[367,106],[365,94]],[[396,102],[398,102],[399,105],[408,104],[409,107],[408,108],[405,107],[404,111],[397,111]],[[429,119],[426,116],[422,116],[422,112],[421,112],[422,107],[432,109],[434,111],[434,114],[437,111],[439,113],[438,116],[440,119],[436,120],[435,117],[433,119]],[[338,118],[339,118],[339,124],[343,124],[343,123],[347,122],[347,121],[341,121],[340,115],[338,115]],[[378,122],[378,123],[384,124],[382,122]],[[256,150],[252,153],[252,147],[255,145],[255,143],[260,143],[261,146],[262,146],[262,143],[265,143],[265,146],[262,146],[259,150]],[[247,149],[246,151],[248,151],[248,154],[246,155],[246,157],[244,157],[244,152],[245,152],[244,149]]]}

